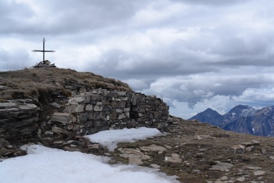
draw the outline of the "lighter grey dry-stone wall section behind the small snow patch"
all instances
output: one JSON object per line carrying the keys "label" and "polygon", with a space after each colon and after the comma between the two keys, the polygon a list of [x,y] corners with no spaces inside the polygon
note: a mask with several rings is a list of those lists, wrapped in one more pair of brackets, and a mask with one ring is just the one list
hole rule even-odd
{"label": "lighter grey dry-stone wall section behind the small snow patch", "polygon": [[75,95],[51,117],[53,132],[92,134],[123,127],[164,127],[169,106],[141,93],[92,90]]}

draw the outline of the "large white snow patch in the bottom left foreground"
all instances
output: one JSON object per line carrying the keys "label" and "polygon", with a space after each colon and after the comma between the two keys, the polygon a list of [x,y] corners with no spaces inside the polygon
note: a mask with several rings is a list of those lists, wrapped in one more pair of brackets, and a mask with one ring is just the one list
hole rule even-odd
{"label": "large white snow patch in the bottom left foreground", "polygon": [[0,162],[0,182],[178,182],[174,176],[167,176],[155,169],[107,164],[103,156],[51,149],[42,145],[28,146],[27,153],[26,156]]}

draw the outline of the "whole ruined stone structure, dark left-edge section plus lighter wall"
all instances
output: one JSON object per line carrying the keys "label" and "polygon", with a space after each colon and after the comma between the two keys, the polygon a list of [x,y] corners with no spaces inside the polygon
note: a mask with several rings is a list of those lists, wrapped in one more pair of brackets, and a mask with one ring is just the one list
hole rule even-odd
{"label": "whole ruined stone structure, dark left-edge section plus lighter wall", "polygon": [[39,111],[45,114],[46,109],[38,108],[32,99],[0,103],[0,138],[20,143],[40,136],[45,127],[45,134],[79,135],[123,127],[161,129],[169,116],[169,106],[162,99],[116,90],[90,90],[73,95],[64,105],[56,102],[51,105],[56,112],[42,118]]}

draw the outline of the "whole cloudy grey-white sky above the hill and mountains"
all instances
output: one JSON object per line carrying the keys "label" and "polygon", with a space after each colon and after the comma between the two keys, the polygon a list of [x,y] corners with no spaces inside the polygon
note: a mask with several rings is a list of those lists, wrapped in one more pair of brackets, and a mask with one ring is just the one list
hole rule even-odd
{"label": "whole cloudy grey-white sky above the hill and mountains", "polygon": [[1,0],[0,71],[46,59],[157,95],[188,119],[274,105],[272,0]]}

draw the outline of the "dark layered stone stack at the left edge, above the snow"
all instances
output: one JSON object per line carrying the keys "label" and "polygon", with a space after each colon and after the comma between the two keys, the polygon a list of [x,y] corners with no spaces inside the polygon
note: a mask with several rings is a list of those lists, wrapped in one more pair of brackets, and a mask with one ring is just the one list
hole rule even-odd
{"label": "dark layered stone stack at the left edge, above the snow", "polygon": [[0,103],[0,138],[16,143],[36,136],[38,110],[31,99]]}

